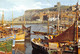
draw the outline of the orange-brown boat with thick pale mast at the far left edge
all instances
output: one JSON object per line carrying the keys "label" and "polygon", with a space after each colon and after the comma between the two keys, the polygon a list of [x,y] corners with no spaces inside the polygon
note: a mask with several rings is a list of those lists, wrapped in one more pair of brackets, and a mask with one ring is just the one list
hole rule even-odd
{"label": "orange-brown boat with thick pale mast at the far left edge", "polygon": [[9,37],[12,35],[12,28],[10,24],[4,24],[4,11],[2,14],[2,23],[0,25],[0,38]]}

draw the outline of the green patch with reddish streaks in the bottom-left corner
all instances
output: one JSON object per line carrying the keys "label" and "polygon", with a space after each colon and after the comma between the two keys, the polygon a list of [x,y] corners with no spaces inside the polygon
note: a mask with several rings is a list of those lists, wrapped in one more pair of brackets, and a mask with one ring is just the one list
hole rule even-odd
{"label": "green patch with reddish streaks in the bottom-left corner", "polygon": [[12,51],[12,43],[13,43],[12,40],[0,42],[0,51],[6,51],[7,50],[7,52],[11,52]]}

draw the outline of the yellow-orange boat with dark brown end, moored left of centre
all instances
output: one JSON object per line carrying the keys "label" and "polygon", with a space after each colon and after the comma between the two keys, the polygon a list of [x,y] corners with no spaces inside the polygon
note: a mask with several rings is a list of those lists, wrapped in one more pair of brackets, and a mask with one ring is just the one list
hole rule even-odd
{"label": "yellow-orange boat with dark brown end, moored left of centre", "polygon": [[25,41],[25,39],[30,39],[30,30],[31,27],[22,27],[22,29],[19,29],[16,33],[15,41]]}

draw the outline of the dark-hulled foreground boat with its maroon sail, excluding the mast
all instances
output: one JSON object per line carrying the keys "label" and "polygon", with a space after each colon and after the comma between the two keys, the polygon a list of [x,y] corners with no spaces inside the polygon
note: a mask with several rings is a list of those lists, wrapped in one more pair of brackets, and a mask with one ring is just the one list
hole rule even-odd
{"label": "dark-hulled foreground boat with its maroon sail, excluding the mast", "polygon": [[48,53],[48,51],[58,51],[60,48],[60,44],[63,42],[63,44],[69,44],[71,43],[70,41],[73,42],[74,37],[75,37],[75,26],[74,24],[68,28],[66,31],[63,33],[59,34],[58,36],[54,37],[53,39],[48,39],[48,40],[42,40],[42,39],[32,39],[32,47],[34,49],[38,49],[40,51]]}

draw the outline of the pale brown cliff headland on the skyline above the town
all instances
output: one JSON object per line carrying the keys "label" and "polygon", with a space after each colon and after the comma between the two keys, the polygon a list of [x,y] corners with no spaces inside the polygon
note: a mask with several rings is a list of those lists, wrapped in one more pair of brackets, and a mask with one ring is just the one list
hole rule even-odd
{"label": "pale brown cliff headland on the skyline above the town", "polygon": [[[64,6],[62,5],[60,7],[60,10],[63,10],[63,11],[67,11],[69,9],[70,6]],[[48,12],[48,11],[57,11],[58,8],[57,8],[57,5],[55,5],[54,7],[50,7],[50,8],[44,8],[44,9],[33,9],[33,10],[26,10],[25,11],[25,19],[26,21],[27,20],[35,20],[36,18],[39,18],[39,16],[36,16],[38,15],[40,12]],[[19,18],[16,18],[14,20],[16,21],[23,21],[24,17],[21,16]]]}

